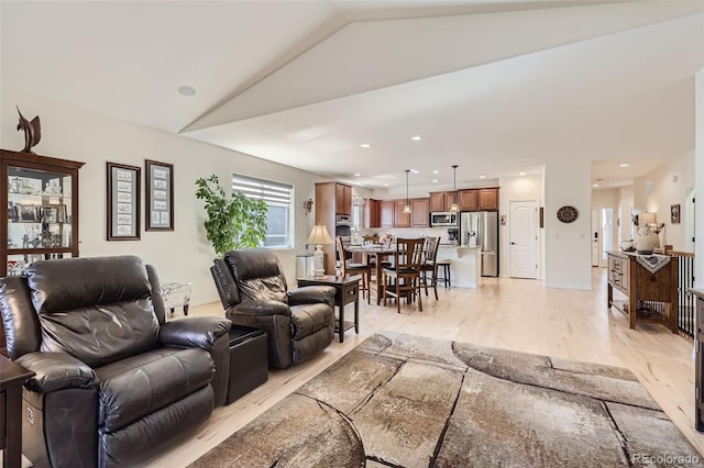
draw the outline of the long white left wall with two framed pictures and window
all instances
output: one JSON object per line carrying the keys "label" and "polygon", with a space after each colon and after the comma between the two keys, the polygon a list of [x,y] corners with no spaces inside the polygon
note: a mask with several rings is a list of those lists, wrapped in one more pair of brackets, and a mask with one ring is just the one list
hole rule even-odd
{"label": "long white left wall with two framed pictures and window", "polygon": [[[194,304],[218,301],[209,271],[215,252],[206,239],[205,210],[195,197],[195,181],[216,174],[227,190],[232,172],[239,172],[294,185],[295,248],[276,253],[288,281],[295,281],[296,253],[305,252],[315,221],[304,215],[302,201],[314,197],[316,176],[8,88],[2,88],[0,97],[0,146],[4,149],[24,146],[23,134],[9,131],[16,126],[15,104],[29,119],[40,115],[42,142],[35,153],[86,163],[79,174],[80,256],[138,255],[155,265],[163,282],[193,282]],[[175,230],[145,232],[142,220],[141,241],[107,242],[106,161],[141,167],[143,178],[144,159],[174,165]]]}

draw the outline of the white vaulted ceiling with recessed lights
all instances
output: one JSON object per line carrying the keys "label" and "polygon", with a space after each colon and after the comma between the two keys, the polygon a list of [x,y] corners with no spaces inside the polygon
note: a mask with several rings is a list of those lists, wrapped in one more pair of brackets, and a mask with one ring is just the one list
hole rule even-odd
{"label": "white vaulted ceiling with recessed lights", "polygon": [[3,87],[367,187],[403,185],[407,168],[431,185],[451,182],[452,164],[462,182],[576,158],[618,186],[694,147],[698,0],[3,1],[0,13]]}

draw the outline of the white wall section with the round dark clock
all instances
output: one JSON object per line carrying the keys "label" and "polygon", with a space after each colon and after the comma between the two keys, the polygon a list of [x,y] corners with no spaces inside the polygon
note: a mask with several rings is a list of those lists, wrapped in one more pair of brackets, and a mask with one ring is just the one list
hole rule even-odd
{"label": "white wall section with the round dark clock", "polygon": [[[590,161],[565,158],[544,170],[546,286],[565,289],[591,289],[592,168]],[[560,207],[576,208],[579,216],[562,223]]]}

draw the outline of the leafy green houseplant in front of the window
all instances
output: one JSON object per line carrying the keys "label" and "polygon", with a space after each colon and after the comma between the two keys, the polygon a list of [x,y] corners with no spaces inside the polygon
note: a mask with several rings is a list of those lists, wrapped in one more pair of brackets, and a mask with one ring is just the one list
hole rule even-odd
{"label": "leafy green houseplant in front of the window", "polygon": [[196,180],[196,198],[206,202],[208,219],[206,237],[222,257],[235,248],[253,248],[263,244],[266,236],[266,211],[263,200],[234,192],[230,197],[220,187],[218,176]]}

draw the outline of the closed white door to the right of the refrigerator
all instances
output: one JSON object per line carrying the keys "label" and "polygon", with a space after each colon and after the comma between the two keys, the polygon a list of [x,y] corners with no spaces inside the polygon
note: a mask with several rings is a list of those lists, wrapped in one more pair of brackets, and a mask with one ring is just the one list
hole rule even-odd
{"label": "closed white door to the right of the refrigerator", "polygon": [[538,202],[508,202],[508,263],[512,278],[538,278]]}

